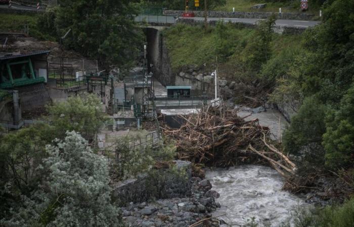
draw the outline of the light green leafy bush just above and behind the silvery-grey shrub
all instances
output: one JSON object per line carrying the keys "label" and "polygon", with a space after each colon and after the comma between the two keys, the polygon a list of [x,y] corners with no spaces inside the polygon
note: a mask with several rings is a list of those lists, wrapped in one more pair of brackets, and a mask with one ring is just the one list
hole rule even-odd
{"label": "light green leafy bush just above and behind the silvery-grey shrub", "polygon": [[48,106],[49,121],[56,129],[57,138],[64,138],[66,131],[76,131],[91,140],[107,121],[101,109],[101,102],[94,94],[69,97],[65,102]]}

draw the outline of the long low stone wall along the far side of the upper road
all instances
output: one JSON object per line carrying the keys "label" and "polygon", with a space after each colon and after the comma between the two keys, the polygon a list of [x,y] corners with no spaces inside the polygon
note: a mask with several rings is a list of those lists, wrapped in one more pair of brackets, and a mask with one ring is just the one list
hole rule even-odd
{"label": "long low stone wall along the far side of the upper road", "polygon": [[[204,11],[191,11],[196,17],[204,17]],[[163,14],[166,16],[182,16],[183,10],[165,10]],[[208,17],[215,18],[256,18],[267,19],[274,13],[268,12],[225,12],[225,11],[208,11]],[[314,14],[305,13],[277,13],[278,19],[283,20],[313,20]]]}

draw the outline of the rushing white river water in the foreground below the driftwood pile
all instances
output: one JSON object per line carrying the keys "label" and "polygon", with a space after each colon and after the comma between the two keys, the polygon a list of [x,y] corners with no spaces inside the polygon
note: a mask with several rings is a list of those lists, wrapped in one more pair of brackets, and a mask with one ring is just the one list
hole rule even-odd
{"label": "rushing white river water in the foreground below the driftwood pile", "polygon": [[272,168],[259,165],[217,168],[206,172],[221,208],[213,216],[229,224],[244,224],[255,218],[258,226],[277,226],[289,218],[298,206],[307,206],[300,198],[282,191],[284,179]]}

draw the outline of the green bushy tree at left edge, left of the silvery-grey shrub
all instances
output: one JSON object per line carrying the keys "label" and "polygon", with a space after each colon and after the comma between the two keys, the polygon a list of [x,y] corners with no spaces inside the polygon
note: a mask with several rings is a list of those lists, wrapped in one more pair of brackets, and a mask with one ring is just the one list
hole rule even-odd
{"label": "green bushy tree at left edge, left of the silvery-grey shrub", "polygon": [[54,137],[51,127],[38,124],[9,133],[0,140],[0,219],[21,195],[29,196],[45,177],[38,166],[47,156],[46,144]]}

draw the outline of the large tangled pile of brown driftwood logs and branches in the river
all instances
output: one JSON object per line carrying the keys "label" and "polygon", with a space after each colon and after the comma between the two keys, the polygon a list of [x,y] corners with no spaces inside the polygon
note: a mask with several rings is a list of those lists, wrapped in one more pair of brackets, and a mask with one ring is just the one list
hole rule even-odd
{"label": "large tangled pile of brown driftwood logs and branches in the river", "polygon": [[225,104],[179,117],[185,120],[180,129],[161,129],[175,141],[180,159],[213,166],[269,162],[281,175],[294,175],[295,164],[271,144],[269,128],[258,119],[245,121]]}

